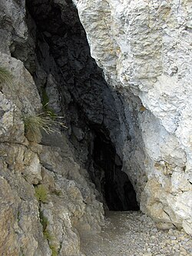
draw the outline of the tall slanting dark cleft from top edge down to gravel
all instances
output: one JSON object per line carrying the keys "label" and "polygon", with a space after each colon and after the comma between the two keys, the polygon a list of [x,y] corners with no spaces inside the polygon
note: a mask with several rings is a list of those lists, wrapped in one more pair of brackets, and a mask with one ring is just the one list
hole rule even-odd
{"label": "tall slanting dark cleft from top edge down to gravel", "polygon": [[[136,192],[127,174],[121,171],[123,162],[111,140],[111,136],[117,137],[120,132],[114,96],[101,69],[91,58],[77,9],[71,0],[63,5],[54,0],[27,0],[26,5],[32,39],[25,45],[15,44],[12,56],[25,63],[41,98],[48,89],[50,74],[55,78],[61,105],[61,109],[57,109],[65,109],[67,113],[71,130],[68,136],[79,155],[89,151],[84,166],[107,208],[139,210]],[[31,47],[31,42],[35,42],[35,46]],[[55,96],[50,91],[48,95],[49,100]]]}

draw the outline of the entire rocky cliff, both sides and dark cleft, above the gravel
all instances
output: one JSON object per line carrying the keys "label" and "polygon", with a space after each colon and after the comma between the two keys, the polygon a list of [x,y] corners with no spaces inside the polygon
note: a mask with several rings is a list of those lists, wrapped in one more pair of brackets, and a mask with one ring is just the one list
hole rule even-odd
{"label": "entire rocky cliff, both sides and dark cleft, above the gravel", "polygon": [[[83,255],[104,208],[137,204],[192,234],[191,8],[0,2],[1,255]],[[68,128],[33,138],[43,111]]]}

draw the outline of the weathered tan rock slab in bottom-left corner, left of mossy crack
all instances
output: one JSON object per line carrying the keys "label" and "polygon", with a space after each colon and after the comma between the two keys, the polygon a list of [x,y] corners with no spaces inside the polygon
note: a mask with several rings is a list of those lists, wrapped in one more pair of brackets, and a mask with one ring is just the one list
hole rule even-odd
{"label": "weathered tan rock slab in bottom-left corner, left of mossy crack", "polygon": [[51,255],[38,217],[32,185],[1,161],[1,254]]}

